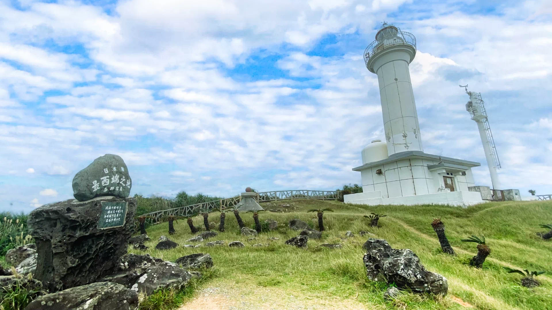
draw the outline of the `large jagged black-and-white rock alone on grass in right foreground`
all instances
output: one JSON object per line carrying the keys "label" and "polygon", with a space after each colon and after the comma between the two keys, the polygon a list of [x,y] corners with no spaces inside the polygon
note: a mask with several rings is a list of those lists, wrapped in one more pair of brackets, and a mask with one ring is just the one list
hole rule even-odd
{"label": "large jagged black-and-white rock alone on grass in right foreground", "polygon": [[[367,244],[368,243],[368,244]],[[368,239],[364,254],[366,274],[371,281],[386,280],[399,288],[409,287],[415,293],[447,295],[448,281],[427,271],[420,259],[409,249],[392,249],[383,239]]]}

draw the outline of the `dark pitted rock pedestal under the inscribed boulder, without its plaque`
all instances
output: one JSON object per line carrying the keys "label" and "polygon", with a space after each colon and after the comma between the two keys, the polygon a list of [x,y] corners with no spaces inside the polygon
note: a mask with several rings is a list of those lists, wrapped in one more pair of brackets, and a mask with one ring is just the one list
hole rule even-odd
{"label": "dark pitted rock pedestal under the inscribed boulder, without its plaque", "polygon": [[[127,202],[122,226],[98,228],[105,202]],[[27,224],[38,253],[35,278],[57,292],[113,274],[116,258],[128,252],[135,213],[134,198],[117,197],[66,200],[33,210]]]}

